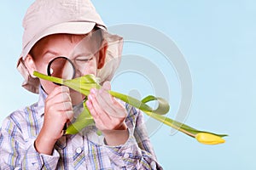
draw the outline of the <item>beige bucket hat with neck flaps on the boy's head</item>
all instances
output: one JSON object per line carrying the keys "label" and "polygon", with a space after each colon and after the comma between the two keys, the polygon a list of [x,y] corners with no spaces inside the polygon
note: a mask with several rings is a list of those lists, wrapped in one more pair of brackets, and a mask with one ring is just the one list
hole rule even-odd
{"label": "beige bucket hat with neck flaps on the boy's head", "polygon": [[102,18],[90,0],[36,0],[27,9],[23,20],[22,52],[17,69],[25,78],[22,87],[38,94],[39,79],[33,78],[24,63],[32,47],[43,37],[57,34],[87,34],[97,26],[104,32],[108,42],[105,65],[97,71],[101,82],[110,81],[119,66],[123,48],[123,38],[111,35]]}

